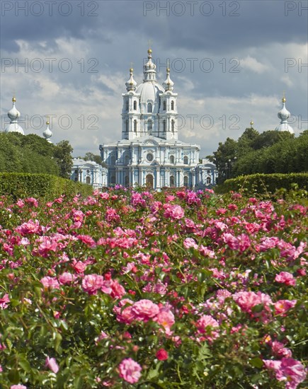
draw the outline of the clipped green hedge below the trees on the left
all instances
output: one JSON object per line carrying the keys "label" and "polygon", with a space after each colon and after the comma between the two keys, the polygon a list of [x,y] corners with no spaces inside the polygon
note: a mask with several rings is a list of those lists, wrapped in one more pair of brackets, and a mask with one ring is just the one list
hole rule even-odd
{"label": "clipped green hedge below the trees on the left", "polygon": [[56,175],[42,173],[0,173],[0,194],[19,199],[23,197],[44,197],[55,199],[61,194],[89,195],[93,187],[74,182]]}

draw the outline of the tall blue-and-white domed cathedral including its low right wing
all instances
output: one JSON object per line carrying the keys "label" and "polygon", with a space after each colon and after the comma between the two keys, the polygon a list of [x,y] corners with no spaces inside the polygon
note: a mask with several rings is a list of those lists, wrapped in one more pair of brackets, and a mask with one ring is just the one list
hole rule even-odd
{"label": "tall blue-and-white domed cathedral including its low right wing", "polygon": [[166,69],[162,85],[156,81],[150,49],[139,86],[130,69],[127,92],[122,94],[122,139],[100,145],[102,160],[108,166],[108,185],[147,185],[159,190],[215,183],[215,166],[199,163],[200,146],[178,139],[178,94],[173,85],[170,69]]}

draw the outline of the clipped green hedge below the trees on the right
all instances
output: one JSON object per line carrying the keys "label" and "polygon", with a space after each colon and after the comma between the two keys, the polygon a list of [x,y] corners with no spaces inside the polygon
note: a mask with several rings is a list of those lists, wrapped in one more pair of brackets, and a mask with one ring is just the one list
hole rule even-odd
{"label": "clipped green hedge below the trees on the right", "polygon": [[222,185],[215,187],[217,193],[227,193],[230,190],[244,190],[248,193],[264,194],[275,193],[283,188],[292,190],[295,186],[298,189],[308,190],[308,173],[290,173],[290,174],[253,174],[241,175],[224,181]]}

